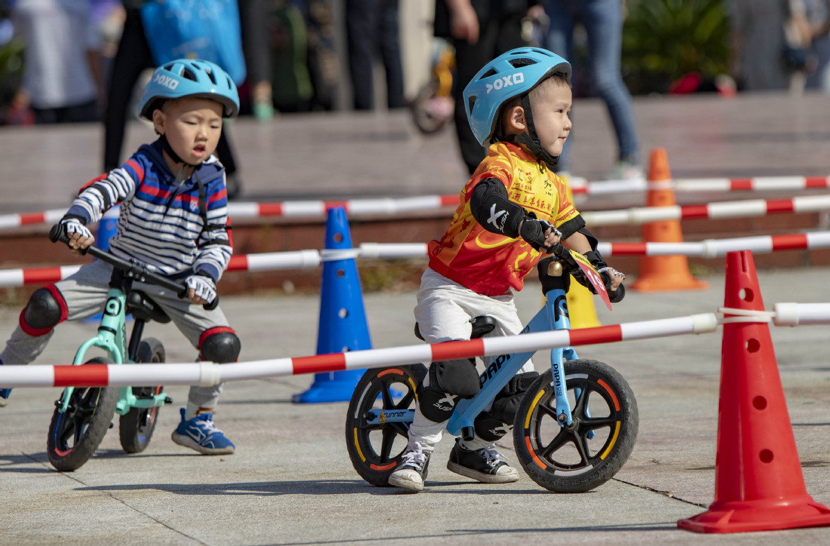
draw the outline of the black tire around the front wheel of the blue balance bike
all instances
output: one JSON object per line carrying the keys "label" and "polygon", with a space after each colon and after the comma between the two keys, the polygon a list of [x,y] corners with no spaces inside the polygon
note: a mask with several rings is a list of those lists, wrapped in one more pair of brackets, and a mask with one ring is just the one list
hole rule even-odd
{"label": "black tire around the front wheel of the blue balance bike", "polygon": [[[534,384],[519,404],[516,411],[515,427],[513,429],[513,445],[522,468],[544,489],[557,493],[582,493],[596,489],[617,474],[631,455],[639,428],[639,413],[637,399],[627,381],[617,370],[598,360],[569,360],[565,362],[565,378],[574,374],[587,374],[583,385],[596,380],[598,388],[592,392],[598,393],[608,403],[609,419],[618,423],[618,433],[608,427],[608,437],[603,446],[591,457],[590,464],[584,464],[577,469],[557,468],[554,462],[544,456],[544,448],[540,444],[542,413],[549,410],[542,408],[553,398],[553,387],[550,385],[553,374],[547,370],[536,379]],[[602,385],[599,381],[605,385]],[[568,382],[568,388],[573,389],[576,381]],[[588,386],[585,386],[588,389]],[[610,389],[610,390],[608,390]],[[608,394],[606,397],[603,394]],[[590,396],[590,395],[589,395]],[[618,403],[616,408],[614,400]],[[615,427],[617,425],[614,425]],[[577,434],[581,429],[577,429]],[[586,429],[587,430],[587,429]],[[559,432],[564,433],[564,431]],[[553,440],[548,443],[552,445]],[[575,445],[575,442],[574,442]],[[541,454],[541,457],[540,457]],[[581,463],[582,461],[580,461]],[[589,470],[583,470],[590,467]]]}

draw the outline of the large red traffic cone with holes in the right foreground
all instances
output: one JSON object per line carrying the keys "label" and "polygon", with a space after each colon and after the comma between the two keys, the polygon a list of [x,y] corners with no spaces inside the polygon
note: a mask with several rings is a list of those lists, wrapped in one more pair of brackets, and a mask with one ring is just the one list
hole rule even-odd
{"label": "large red traffic cone with holes in the right foreground", "polygon": [[[752,253],[726,256],[725,307],[764,311]],[[727,315],[728,311],[725,312]],[[830,525],[830,509],[807,494],[769,326],[724,324],[715,502],[677,526],[740,533]]]}

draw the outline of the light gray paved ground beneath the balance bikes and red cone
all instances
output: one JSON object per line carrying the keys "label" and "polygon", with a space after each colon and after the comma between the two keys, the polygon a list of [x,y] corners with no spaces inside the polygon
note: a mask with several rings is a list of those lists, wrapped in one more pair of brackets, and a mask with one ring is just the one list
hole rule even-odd
{"label": "light gray paved ground beneath the balance bikes and red cone", "polygon": [[[761,273],[774,302],[826,300],[830,270]],[[603,323],[710,312],[723,279],[704,292],[632,292]],[[413,292],[364,297],[375,347],[408,345]],[[539,307],[538,285],[520,293],[523,318]],[[313,353],[319,302],[307,297],[227,297],[242,360]],[[9,332],[17,309],[0,310]],[[39,363],[66,362],[90,324],[66,324]],[[153,325],[168,360],[193,350]],[[808,493],[830,505],[830,367],[826,328],[773,328],[779,370]],[[54,471],[44,451],[56,389],[17,389],[0,409],[0,536],[6,544],[820,544],[827,529],[708,536],[676,529],[713,500],[720,334],[594,345],[632,384],[640,434],[613,481],[581,495],[549,493],[521,472],[515,484],[487,486],[444,468],[439,444],[427,490],[375,488],[354,472],[344,447],[346,403],[295,405],[310,377],[228,384],[217,423],[238,451],[203,457],[170,441],[185,388],[161,413],[147,451],[127,456],[115,431],[78,471]],[[504,447],[515,461],[512,447]],[[824,537],[824,539],[822,539]]]}

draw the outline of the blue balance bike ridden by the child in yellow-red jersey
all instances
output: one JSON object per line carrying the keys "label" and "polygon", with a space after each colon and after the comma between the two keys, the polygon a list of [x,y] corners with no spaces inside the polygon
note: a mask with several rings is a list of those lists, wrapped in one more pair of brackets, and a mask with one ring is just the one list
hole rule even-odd
{"label": "blue balance bike ridden by the child in yellow-red jersey", "polygon": [[[579,267],[576,253],[559,245],[553,254],[540,261],[544,307],[522,333],[570,328],[565,301],[569,275],[581,275],[586,282],[589,275]],[[471,322],[472,337],[485,336],[495,327],[490,316]],[[479,393],[456,404],[447,431],[471,439],[476,417],[532,355],[498,356],[481,373]],[[426,375],[423,364],[372,369],[354,389],[346,446],[354,469],[374,486],[388,486],[406,448]],[[637,401],[623,376],[598,360],[579,359],[566,347],[550,351],[549,369],[525,391],[514,423],[505,423],[504,432],[513,425],[516,456],[533,481],[550,491],[577,493],[601,486],[623,467],[637,440],[638,423]]]}

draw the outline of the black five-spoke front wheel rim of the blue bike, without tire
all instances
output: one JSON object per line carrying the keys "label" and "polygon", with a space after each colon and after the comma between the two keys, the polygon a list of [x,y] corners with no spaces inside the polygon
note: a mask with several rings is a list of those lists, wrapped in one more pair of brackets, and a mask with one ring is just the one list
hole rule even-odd
{"label": "black five-spoke front wheel rim of the blue bike, without tire", "polygon": [[566,374],[565,380],[573,427],[559,427],[554,389],[549,384],[538,391],[521,423],[530,458],[554,475],[579,474],[602,465],[618,444],[623,426],[619,395],[607,379],[580,370]]}

